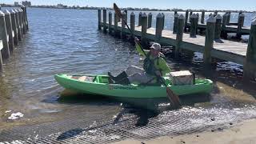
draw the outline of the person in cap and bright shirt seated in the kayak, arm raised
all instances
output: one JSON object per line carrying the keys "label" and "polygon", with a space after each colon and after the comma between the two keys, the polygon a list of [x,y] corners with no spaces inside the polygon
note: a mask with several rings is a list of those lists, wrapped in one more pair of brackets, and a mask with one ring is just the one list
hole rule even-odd
{"label": "person in cap and bright shirt seated in the kayak, arm raised", "polygon": [[143,69],[137,66],[129,66],[116,77],[108,72],[110,83],[122,85],[129,85],[130,83],[154,84],[158,83],[158,77],[170,73],[170,67],[166,63],[166,58],[164,54],[160,52],[161,45],[159,43],[154,42],[153,45],[150,46],[150,50],[144,50],[144,54],[142,47],[138,45],[138,38],[134,38],[134,42],[138,53],[146,57],[144,59]]}

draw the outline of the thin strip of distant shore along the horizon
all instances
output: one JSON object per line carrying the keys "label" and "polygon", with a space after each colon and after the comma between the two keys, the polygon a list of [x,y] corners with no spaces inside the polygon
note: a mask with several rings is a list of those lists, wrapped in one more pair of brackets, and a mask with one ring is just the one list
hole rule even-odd
{"label": "thin strip of distant shore along the horizon", "polygon": [[[17,6],[13,6],[13,5],[1,5],[2,7],[17,7]],[[94,6],[62,6],[62,7],[58,7],[58,6],[28,6],[28,7],[33,7],[33,8],[50,8],[50,9],[75,9],[75,10],[99,10],[99,9],[106,9],[106,10],[113,10],[110,7],[94,7]],[[149,9],[149,8],[121,8],[121,10],[133,10],[133,11],[183,11],[185,12],[186,10],[182,10],[182,9]],[[218,12],[231,12],[231,13],[256,13],[256,11],[247,11],[247,10],[191,10],[188,9],[189,11],[205,11],[205,12],[214,12],[214,11],[218,11]]]}

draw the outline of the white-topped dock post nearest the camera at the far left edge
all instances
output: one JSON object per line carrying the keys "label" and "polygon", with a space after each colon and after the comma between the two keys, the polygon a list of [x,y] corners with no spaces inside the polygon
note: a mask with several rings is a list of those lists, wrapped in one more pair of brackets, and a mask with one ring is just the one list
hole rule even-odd
{"label": "white-topped dock post nearest the camera at the far left edge", "polygon": [[2,58],[10,58],[9,39],[6,30],[5,14],[0,11],[0,39],[2,39]]}

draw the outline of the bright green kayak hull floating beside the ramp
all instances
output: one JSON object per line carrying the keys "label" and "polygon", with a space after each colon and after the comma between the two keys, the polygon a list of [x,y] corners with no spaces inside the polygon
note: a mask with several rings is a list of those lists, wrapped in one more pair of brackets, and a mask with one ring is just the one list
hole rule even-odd
{"label": "bright green kayak hull floating beside the ramp", "polygon": [[[166,98],[165,86],[109,84],[107,75],[56,74],[54,78],[64,88],[83,94],[99,94],[118,98]],[[172,86],[170,79],[167,77],[165,79],[167,86],[178,95],[210,93],[213,89],[213,82],[210,79],[195,79],[194,85],[186,86]]]}

